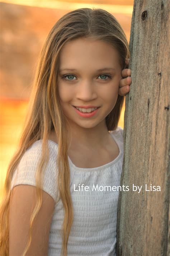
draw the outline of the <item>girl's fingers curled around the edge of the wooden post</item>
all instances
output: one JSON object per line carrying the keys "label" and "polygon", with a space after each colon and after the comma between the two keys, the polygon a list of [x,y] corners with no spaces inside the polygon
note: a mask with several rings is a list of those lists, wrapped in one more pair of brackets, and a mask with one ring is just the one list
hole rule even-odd
{"label": "girl's fingers curled around the edge of the wooden post", "polygon": [[122,70],[122,79],[119,83],[119,95],[125,96],[127,93],[129,93],[130,90],[130,84],[132,83],[131,78],[131,69],[128,69],[129,59],[126,59],[126,69]]}

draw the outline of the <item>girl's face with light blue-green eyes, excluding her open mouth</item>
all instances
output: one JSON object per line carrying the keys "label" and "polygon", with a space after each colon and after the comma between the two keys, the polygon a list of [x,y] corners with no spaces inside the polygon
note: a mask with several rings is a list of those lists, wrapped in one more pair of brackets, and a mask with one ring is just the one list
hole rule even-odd
{"label": "girl's face with light blue-green eyes, excluding her open mouth", "polygon": [[[107,42],[78,38],[63,46],[59,61],[57,86],[68,121],[83,128],[105,128],[105,117],[115,106],[122,78],[118,51]],[[74,106],[100,108],[87,118]]]}

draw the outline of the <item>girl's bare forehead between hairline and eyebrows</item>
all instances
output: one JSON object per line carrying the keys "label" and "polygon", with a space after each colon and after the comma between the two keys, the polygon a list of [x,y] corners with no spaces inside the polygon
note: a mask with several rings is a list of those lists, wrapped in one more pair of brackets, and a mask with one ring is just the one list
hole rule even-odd
{"label": "girl's bare forehead between hairline and eyebrows", "polygon": [[89,68],[118,65],[119,53],[108,42],[78,38],[67,42],[60,52],[60,68],[65,66],[78,68],[88,64]]}

